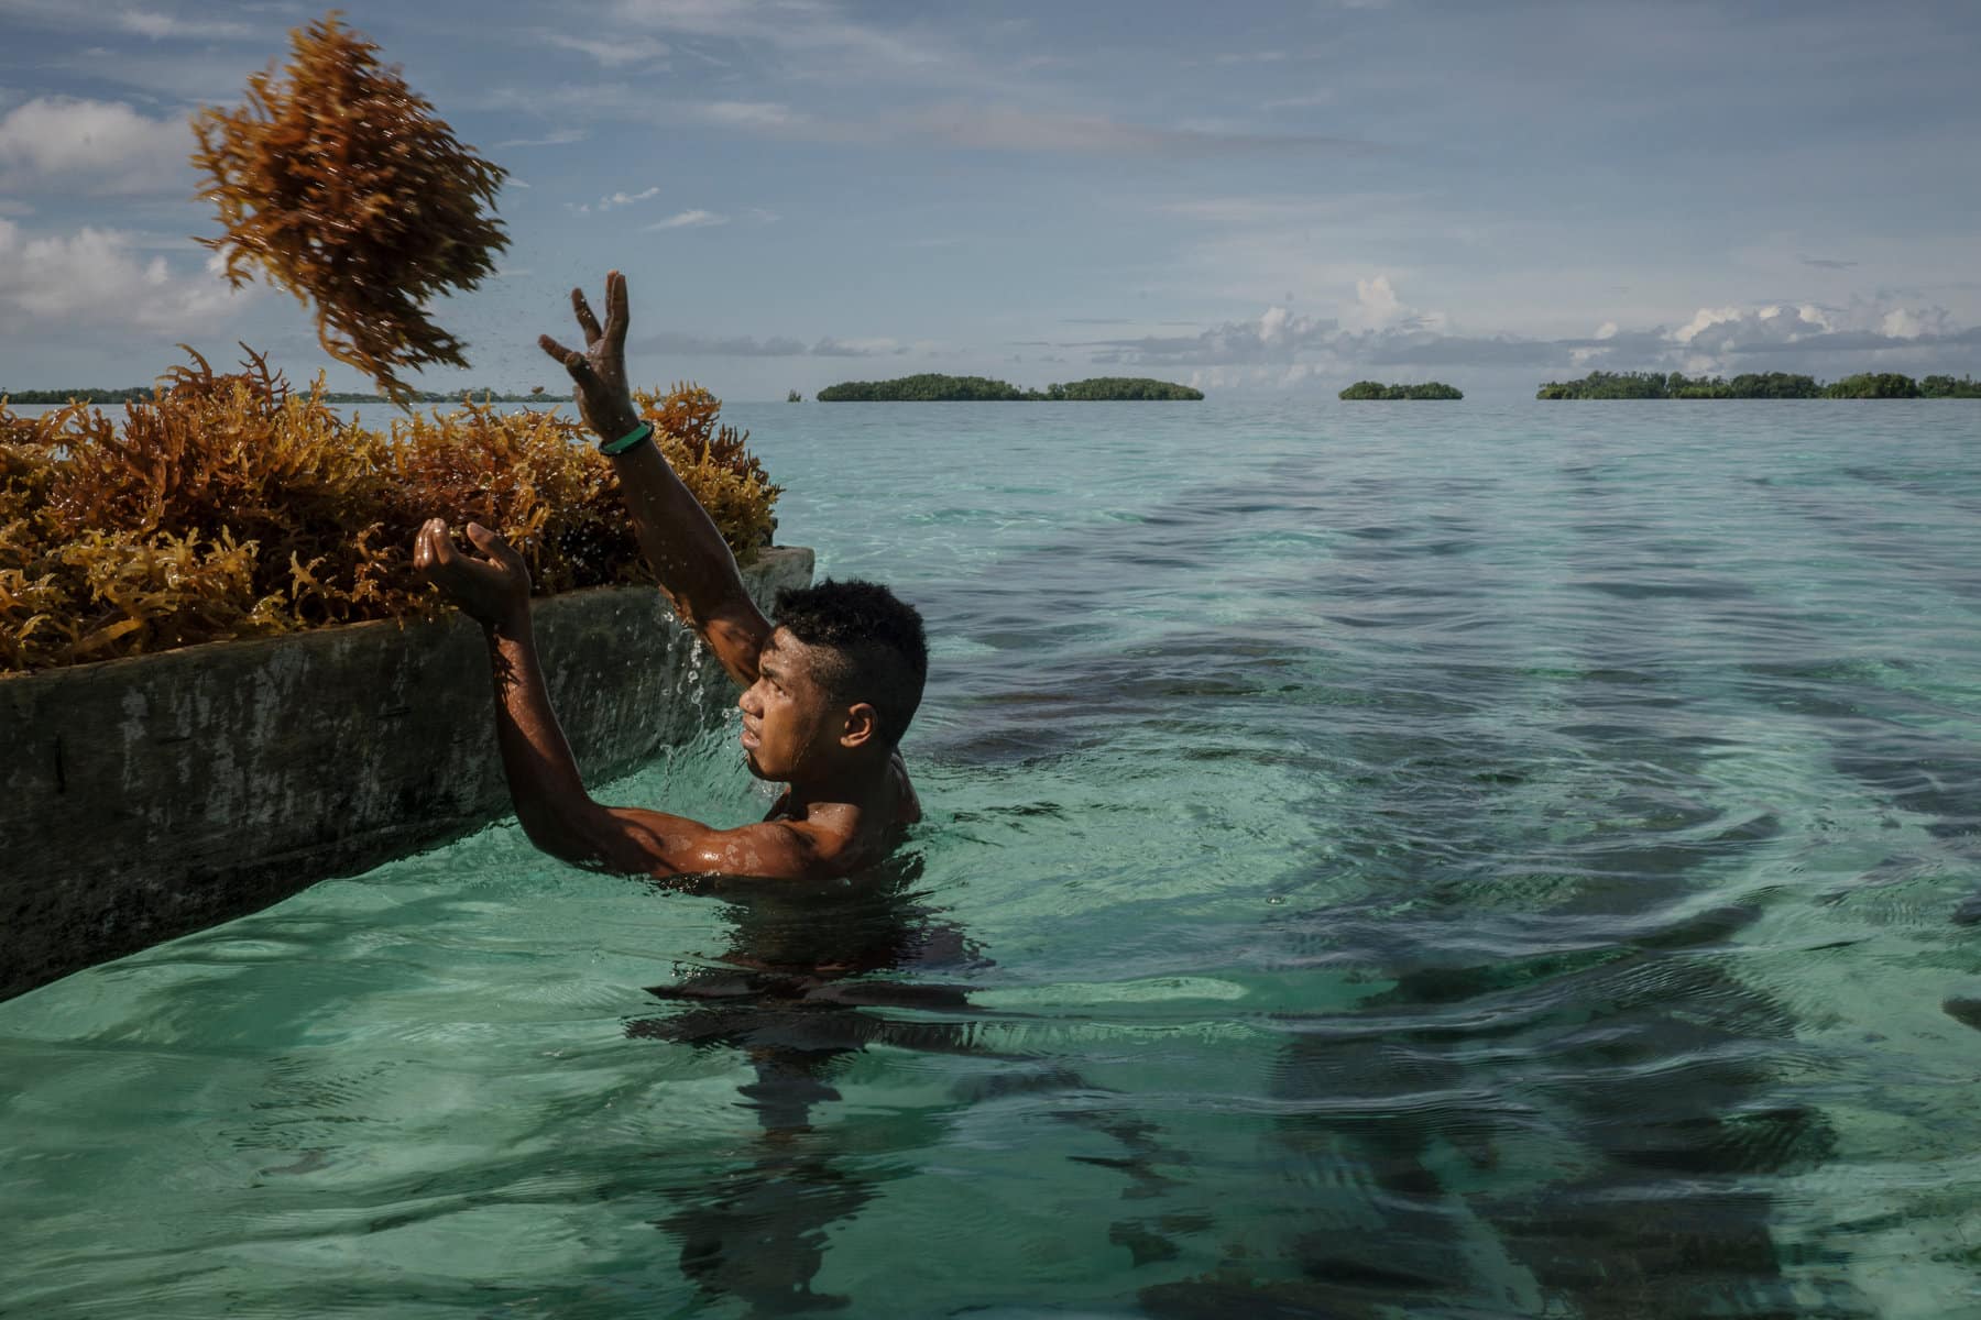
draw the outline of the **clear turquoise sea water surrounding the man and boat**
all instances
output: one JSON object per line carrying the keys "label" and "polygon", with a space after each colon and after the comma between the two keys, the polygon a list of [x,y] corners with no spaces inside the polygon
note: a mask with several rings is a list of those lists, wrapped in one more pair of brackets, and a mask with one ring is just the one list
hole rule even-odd
{"label": "clear turquoise sea water surrounding the man and boat", "polygon": [[729,412],[929,617],[891,889],[0,1005],[0,1314],[1981,1312],[1981,408]]}

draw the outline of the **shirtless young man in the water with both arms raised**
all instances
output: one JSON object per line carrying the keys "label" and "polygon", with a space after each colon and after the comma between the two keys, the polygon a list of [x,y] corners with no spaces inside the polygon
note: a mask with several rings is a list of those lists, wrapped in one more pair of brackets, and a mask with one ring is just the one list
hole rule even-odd
{"label": "shirtless young man in the water with both arms raised", "polygon": [[[606,275],[606,323],[571,291],[584,352],[549,334],[578,412],[612,453],[640,552],[683,623],[743,687],[743,756],[788,788],[771,815],[715,829],[666,811],[592,801],[551,710],[529,621],[529,570],[495,532],[469,522],[464,554],[430,519],[414,564],[481,623],[495,671],[495,734],[529,841],[563,861],[634,875],[737,875],[826,881],[882,861],[921,817],[897,744],[921,701],[929,651],[921,615],[872,582],[822,582],[779,594],[773,625],[743,590],[709,515],[674,475],[626,386],[626,279]],[[620,441],[632,443],[620,443]]]}

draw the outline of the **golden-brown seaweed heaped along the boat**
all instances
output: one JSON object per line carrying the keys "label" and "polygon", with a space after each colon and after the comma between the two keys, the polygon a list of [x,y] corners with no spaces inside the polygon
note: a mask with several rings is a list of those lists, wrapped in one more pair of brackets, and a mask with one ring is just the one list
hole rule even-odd
{"label": "golden-brown seaweed heaped along the boat", "polygon": [[[507,536],[539,596],[648,580],[612,463],[573,420],[469,400],[380,433],[325,402],[321,376],[295,392],[254,350],[234,374],[192,358],[123,424],[79,404],[18,416],[0,398],[0,675],[434,615],[410,552],[430,517]],[[749,431],[695,386],[638,400],[751,562],[782,491]]]}

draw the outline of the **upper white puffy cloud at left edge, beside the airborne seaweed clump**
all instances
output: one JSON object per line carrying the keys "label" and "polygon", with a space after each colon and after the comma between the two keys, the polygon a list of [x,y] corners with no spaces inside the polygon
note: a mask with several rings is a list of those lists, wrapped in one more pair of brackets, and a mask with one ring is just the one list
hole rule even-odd
{"label": "upper white puffy cloud at left edge, beside the airborne seaweed clump", "polygon": [[147,192],[184,186],[192,131],[182,119],[147,119],[123,101],[36,97],[0,117],[0,186],[85,186]]}

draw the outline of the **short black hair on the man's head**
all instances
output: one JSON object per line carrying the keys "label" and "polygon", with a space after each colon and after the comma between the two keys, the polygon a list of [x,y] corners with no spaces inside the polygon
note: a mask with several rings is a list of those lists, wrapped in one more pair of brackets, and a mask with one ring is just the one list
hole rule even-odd
{"label": "short black hair on the man's head", "polygon": [[921,613],[880,582],[826,578],[777,594],[777,625],[808,647],[836,653],[814,675],[834,701],[864,701],[880,714],[882,746],[895,746],[921,705],[929,641]]}

